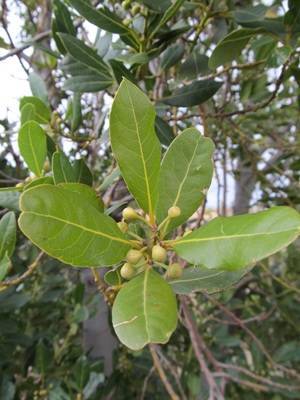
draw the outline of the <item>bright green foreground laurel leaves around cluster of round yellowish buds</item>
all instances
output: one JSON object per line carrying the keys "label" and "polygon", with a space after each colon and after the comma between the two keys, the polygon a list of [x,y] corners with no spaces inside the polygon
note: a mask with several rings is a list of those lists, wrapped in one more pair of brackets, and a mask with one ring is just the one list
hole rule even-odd
{"label": "bright green foreground laurel leaves around cluster of round yellowish buds", "polygon": [[[110,140],[136,207],[126,207],[117,223],[93,188],[84,161],[72,164],[52,142],[45,130],[47,108],[33,97],[22,102],[19,149],[33,175],[15,188],[22,192],[19,227],[33,244],[65,264],[110,267],[104,279],[113,327],[133,350],[169,340],[177,325],[176,294],[225,289],[300,233],[295,210],[273,207],[218,217],[176,236],[176,228],[183,226],[184,232],[210,186],[214,144],[188,128],[162,157],[155,108],[127,79],[112,105]],[[0,229],[14,225],[11,215],[6,220]],[[2,247],[2,264],[9,262],[13,242],[12,233]]]}

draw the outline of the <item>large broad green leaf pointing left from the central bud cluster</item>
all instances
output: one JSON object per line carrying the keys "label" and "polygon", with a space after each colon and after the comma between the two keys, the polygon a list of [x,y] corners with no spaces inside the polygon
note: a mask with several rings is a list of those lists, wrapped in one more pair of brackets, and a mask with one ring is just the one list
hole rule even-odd
{"label": "large broad green leaf pointing left from the central bud cluster", "polygon": [[20,208],[19,226],[24,235],[66,264],[113,265],[131,247],[112,218],[63,187],[41,185],[26,190]]}

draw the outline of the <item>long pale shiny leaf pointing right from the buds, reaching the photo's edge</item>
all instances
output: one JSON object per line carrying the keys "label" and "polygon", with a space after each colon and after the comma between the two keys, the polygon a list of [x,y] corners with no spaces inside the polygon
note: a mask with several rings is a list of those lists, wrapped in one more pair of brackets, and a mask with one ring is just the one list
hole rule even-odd
{"label": "long pale shiny leaf pointing right from the buds, reaching the photo's edge", "polygon": [[174,242],[191,264],[238,270],[276,253],[300,233],[300,215],[289,207],[256,214],[218,217]]}

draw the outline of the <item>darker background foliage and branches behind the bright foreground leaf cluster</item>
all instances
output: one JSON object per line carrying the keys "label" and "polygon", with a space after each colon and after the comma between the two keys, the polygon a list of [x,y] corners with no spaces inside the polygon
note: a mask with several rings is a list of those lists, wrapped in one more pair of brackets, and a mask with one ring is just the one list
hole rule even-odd
{"label": "darker background foliage and branches behind the bright foreground leaf cluster", "polygon": [[[36,108],[50,121],[48,133],[71,161],[85,159],[115,217],[131,201],[107,133],[122,76],[155,103],[164,149],[191,126],[216,145],[214,201],[191,226],[215,213],[283,204],[299,210],[299,2],[125,0],[93,7],[98,3],[106,11],[83,0],[2,1],[0,59],[22,64],[44,103]],[[16,38],[11,10],[22,21]],[[28,172],[16,152],[18,117],[0,123],[6,187]],[[17,194],[1,192],[0,206],[1,215],[18,211]],[[226,399],[300,397],[299,252],[291,245],[226,292],[182,298],[179,329],[155,349],[179,398],[208,399],[214,384]],[[36,255],[19,235],[9,277]],[[112,346],[108,376],[102,359],[83,348],[99,301],[80,272],[47,257],[28,279],[1,291],[0,398],[166,398],[147,349]]]}

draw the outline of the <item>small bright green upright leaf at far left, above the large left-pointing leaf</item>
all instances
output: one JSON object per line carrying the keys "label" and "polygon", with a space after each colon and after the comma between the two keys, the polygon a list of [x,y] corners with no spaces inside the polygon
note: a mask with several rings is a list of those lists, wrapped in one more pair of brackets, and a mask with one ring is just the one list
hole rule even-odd
{"label": "small bright green upright leaf at far left, above the large left-pointing leaf", "polygon": [[41,176],[47,157],[46,133],[35,121],[26,122],[19,130],[18,144],[28,168]]}

